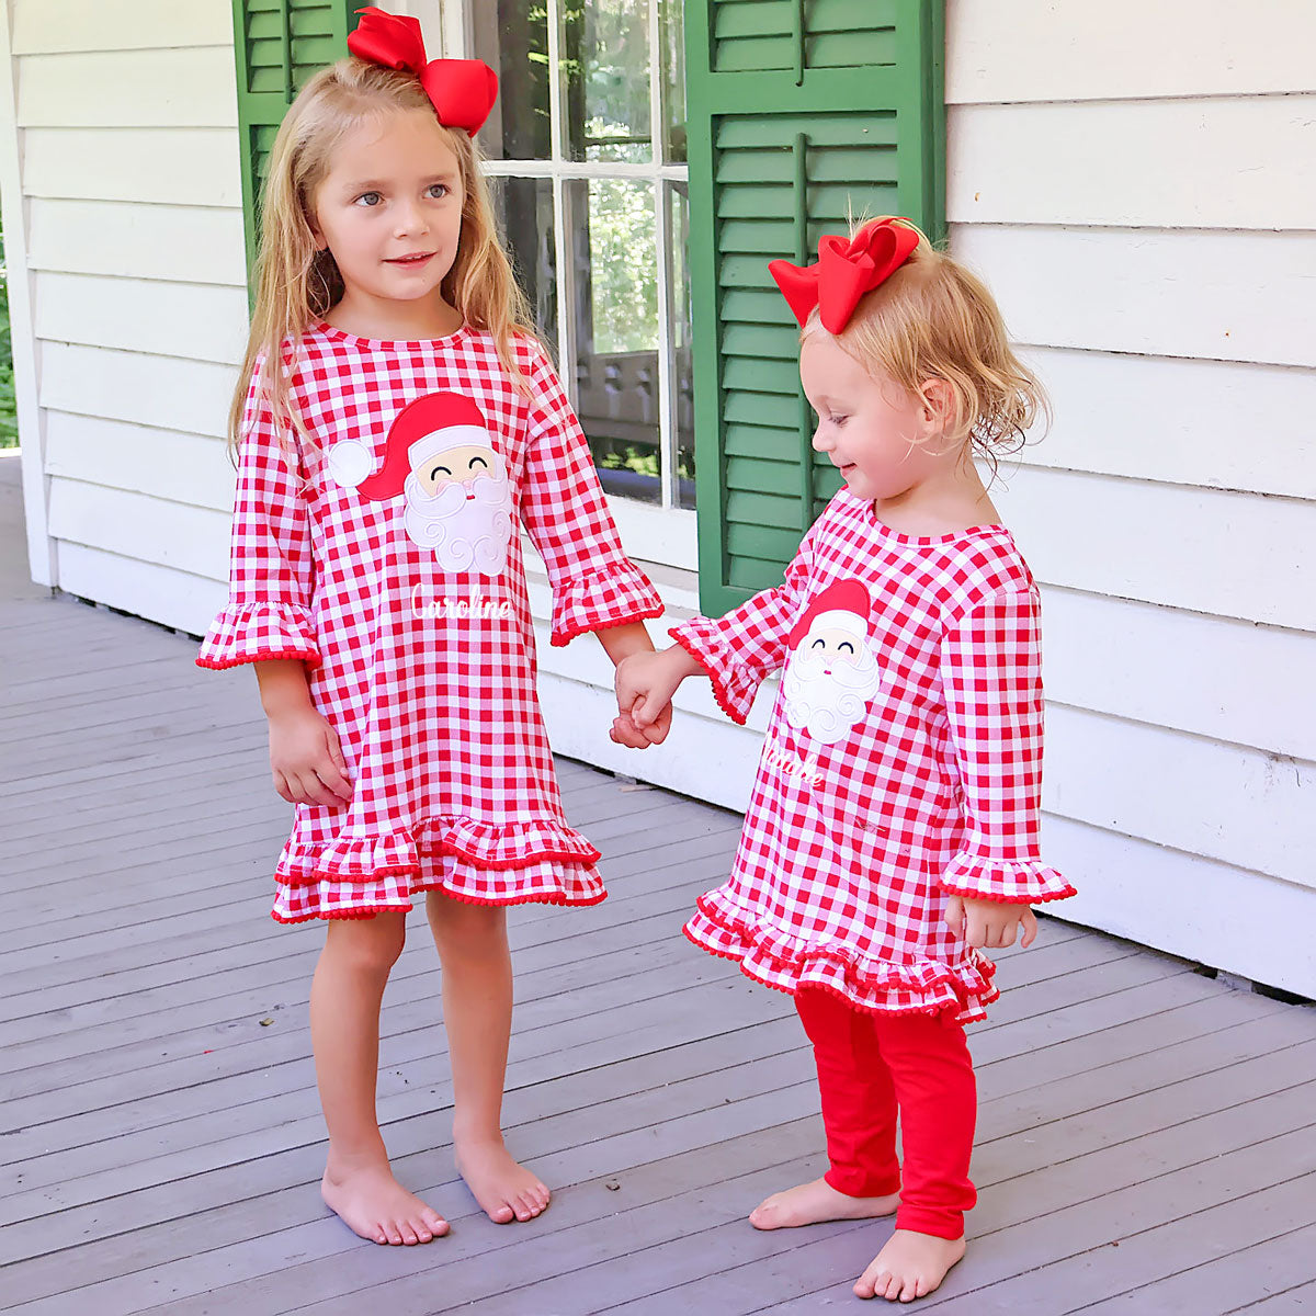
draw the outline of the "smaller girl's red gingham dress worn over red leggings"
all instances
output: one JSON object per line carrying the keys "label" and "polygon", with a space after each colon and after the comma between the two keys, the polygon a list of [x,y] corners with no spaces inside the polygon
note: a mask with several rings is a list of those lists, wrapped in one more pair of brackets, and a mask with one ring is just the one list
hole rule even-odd
{"label": "smaller girl's red gingham dress worn over red leggings", "polygon": [[783,584],[671,630],[733,721],[837,580],[871,599],[878,692],[832,745],[792,728],[779,692],[732,878],[700,898],[686,934],[786,992],[809,984],[866,1011],[982,1019],[1000,995],[995,966],[946,926],[948,898],[1074,895],[1037,848],[1037,586],[1001,526],[913,538],[842,490]]}

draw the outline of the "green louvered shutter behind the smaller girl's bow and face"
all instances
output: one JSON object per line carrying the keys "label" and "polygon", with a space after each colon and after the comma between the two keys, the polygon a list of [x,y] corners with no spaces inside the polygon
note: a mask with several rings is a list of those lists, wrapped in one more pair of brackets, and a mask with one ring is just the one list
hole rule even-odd
{"label": "green louvered shutter behind the smaller girl's bow and face", "polygon": [[848,216],[945,230],[942,0],[686,0],[700,603],[780,582],[836,492],[767,272]]}

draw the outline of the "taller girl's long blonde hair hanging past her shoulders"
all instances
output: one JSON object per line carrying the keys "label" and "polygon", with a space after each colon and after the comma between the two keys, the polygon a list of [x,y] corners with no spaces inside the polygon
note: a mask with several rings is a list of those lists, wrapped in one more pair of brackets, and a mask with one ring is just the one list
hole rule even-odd
{"label": "taller girl's long blonde hair hanging past her shoulders", "polygon": [[[354,58],[321,68],[288,108],[270,151],[261,195],[255,309],[229,408],[230,453],[237,451],[253,387],[270,408],[280,443],[293,432],[305,434],[288,384],[293,358],[283,345],[288,340],[295,343],[343,293],[333,255],[317,250],[311,232],[316,190],[330,170],[336,147],[351,129],[371,116],[382,120],[390,112],[408,109],[434,112],[417,78]],[[479,147],[461,129],[445,128],[443,133],[457,157],[465,200],[457,258],[440,292],[466,324],[494,336],[503,367],[524,388],[528,386],[516,365],[513,338],[533,337],[534,330],[497,240]],[[261,372],[253,380],[258,361]]]}

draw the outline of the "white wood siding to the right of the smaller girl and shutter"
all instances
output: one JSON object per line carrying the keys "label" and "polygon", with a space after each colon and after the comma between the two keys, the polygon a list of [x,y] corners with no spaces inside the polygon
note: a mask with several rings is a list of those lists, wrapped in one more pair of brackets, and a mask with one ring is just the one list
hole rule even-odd
{"label": "white wood siding to the right of the smaller girl and shutter", "polygon": [[1055,412],[994,496],[1042,583],[1066,912],[1309,994],[1316,9],[946,25],[951,250]]}

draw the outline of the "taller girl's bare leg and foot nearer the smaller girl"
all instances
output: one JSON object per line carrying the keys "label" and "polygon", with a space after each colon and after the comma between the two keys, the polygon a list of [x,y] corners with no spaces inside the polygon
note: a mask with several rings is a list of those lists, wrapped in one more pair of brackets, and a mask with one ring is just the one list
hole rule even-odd
{"label": "taller girl's bare leg and foot nearer the smaller girl", "polygon": [[503,1142],[503,1083],[512,1036],[512,955],[507,911],[440,891],[426,903],[443,966],[443,1023],[453,1063],[457,1169],[495,1224],[532,1220],[549,1190]]}

